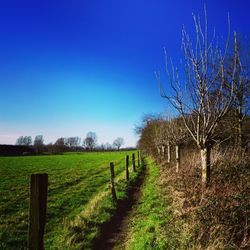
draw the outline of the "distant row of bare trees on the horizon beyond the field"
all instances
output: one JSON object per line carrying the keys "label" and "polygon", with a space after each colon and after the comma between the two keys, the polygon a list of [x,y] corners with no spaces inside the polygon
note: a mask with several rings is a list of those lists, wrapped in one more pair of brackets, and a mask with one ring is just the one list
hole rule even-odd
{"label": "distant row of bare trees on the horizon beyond the field", "polygon": [[[20,136],[17,141],[16,145],[25,145],[25,146],[31,146],[34,145],[34,147],[42,147],[44,146],[44,139],[42,135],[37,135],[34,139],[34,142],[32,144],[32,138],[31,136]],[[80,147],[81,146],[81,138],[78,136],[75,137],[60,137],[56,140],[54,144],[50,143],[50,146],[56,146],[57,148],[65,148],[65,147]],[[116,148],[117,150],[120,150],[121,146],[124,145],[124,139],[121,137],[118,137],[114,140],[113,145],[106,143],[102,145],[97,144],[97,135],[95,132],[88,132],[86,137],[83,139],[82,146],[89,151],[92,151],[96,148],[101,150],[111,150]]]}

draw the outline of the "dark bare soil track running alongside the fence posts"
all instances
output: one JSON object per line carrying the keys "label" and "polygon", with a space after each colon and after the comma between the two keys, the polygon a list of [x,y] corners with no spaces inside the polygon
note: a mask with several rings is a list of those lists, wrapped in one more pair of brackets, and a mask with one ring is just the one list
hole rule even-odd
{"label": "dark bare soil track running alongside the fence posts", "polygon": [[129,221],[133,208],[140,198],[140,190],[145,179],[145,173],[146,169],[142,171],[136,184],[128,191],[128,198],[118,204],[117,211],[111,220],[101,227],[101,236],[94,243],[94,250],[125,249]]}

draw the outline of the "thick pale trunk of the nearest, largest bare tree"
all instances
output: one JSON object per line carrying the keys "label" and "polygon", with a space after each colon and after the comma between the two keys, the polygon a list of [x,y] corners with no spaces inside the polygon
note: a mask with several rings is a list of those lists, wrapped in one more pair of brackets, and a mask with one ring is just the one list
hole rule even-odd
{"label": "thick pale trunk of the nearest, largest bare tree", "polygon": [[201,169],[202,169],[201,182],[202,186],[205,188],[208,186],[211,176],[211,148],[210,147],[202,148],[200,152],[201,152]]}

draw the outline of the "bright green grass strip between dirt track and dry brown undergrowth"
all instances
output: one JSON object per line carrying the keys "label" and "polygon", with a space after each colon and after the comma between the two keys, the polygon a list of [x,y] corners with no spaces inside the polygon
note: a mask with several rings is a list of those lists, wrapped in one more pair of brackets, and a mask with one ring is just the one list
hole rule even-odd
{"label": "bright green grass strip between dirt track and dry brown undergrowth", "polygon": [[169,249],[169,237],[165,227],[170,220],[168,204],[158,185],[159,167],[147,160],[147,175],[142,186],[141,197],[131,216],[128,227],[126,249]]}

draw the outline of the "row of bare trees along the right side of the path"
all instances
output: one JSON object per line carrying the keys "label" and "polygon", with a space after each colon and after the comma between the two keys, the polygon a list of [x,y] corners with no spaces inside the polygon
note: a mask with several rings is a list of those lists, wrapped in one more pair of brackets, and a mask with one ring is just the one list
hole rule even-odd
{"label": "row of bare trees along the right side of the path", "polygon": [[[207,186],[211,175],[211,149],[223,140],[233,139],[239,147],[247,143],[244,131],[249,121],[250,79],[249,48],[244,39],[234,33],[216,42],[215,35],[209,41],[205,10],[205,27],[199,16],[194,15],[195,39],[183,28],[182,48],[184,62],[176,68],[166,52],[168,85],[164,88],[160,74],[156,73],[161,96],[175,110],[174,119],[147,117],[138,129],[139,144],[151,151],[148,143],[158,151],[172,144],[176,146],[177,171],[179,147],[192,140],[201,156],[202,184]],[[249,123],[248,123],[249,125]],[[146,139],[147,138],[147,139]],[[146,141],[145,141],[146,140]]]}

